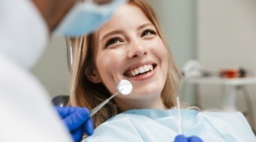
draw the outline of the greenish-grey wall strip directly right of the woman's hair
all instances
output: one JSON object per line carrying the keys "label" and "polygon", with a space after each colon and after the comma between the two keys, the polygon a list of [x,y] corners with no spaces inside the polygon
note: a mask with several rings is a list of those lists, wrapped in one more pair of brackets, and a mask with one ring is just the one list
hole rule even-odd
{"label": "greenish-grey wall strip directly right of the woman's hair", "polygon": [[[189,59],[196,58],[196,1],[195,0],[149,0],[159,16],[168,45],[179,69]],[[197,104],[195,87],[187,84],[182,99]]]}

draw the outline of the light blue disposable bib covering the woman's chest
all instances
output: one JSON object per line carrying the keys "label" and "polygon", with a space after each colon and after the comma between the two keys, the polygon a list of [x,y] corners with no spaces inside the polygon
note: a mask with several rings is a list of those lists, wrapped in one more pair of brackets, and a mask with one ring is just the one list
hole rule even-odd
{"label": "light blue disposable bib covering the woman's chest", "polygon": [[[205,142],[255,142],[240,112],[182,110],[183,134]],[[99,125],[83,142],[173,142],[178,135],[178,110],[132,110]]]}

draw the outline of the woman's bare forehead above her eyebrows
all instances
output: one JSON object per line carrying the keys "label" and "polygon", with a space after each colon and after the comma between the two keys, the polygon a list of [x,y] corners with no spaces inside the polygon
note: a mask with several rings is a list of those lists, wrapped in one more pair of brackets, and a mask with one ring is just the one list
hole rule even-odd
{"label": "woman's bare forehead above her eyebrows", "polygon": [[121,7],[116,9],[113,16],[107,23],[105,23],[98,31],[98,36],[101,38],[109,31],[114,30],[127,30],[131,28],[136,28],[145,23],[151,23],[146,17],[145,13],[140,9],[140,7],[135,6],[131,3],[126,3]]}

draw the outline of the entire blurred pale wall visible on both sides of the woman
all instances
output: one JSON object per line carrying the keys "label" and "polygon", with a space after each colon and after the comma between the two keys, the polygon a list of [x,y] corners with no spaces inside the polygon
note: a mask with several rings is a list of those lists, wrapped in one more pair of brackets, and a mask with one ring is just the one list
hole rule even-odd
{"label": "entire blurred pale wall visible on both sides of the woman", "polygon": [[[256,76],[255,0],[149,0],[163,26],[179,69],[190,59],[201,68],[216,71],[233,67]],[[69,68],[64,37],[55,37],[32,69],[50,97],[69,95]],[[256,118],[256,84],[246,86]],[[221,109],[223,86],[186,84],[183,100],[203,109]],[[247,112],[244,95],[235,106]],[[251,115],[251,114],[248,114]],[[256,127],[256,124],[252,124]]]}

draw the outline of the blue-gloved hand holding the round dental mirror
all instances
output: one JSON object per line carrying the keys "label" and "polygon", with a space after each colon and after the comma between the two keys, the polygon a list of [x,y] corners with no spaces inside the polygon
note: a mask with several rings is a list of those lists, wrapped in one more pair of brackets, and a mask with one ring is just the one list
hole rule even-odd
{"label": "blue-gloved hand holding the round dental mirror", "polygon": [[84,132],[87,135],[92,135],[94,130],[93,121],[87,108],[55,106],[55,109],[64,121],[64,124],[68,127],[75,142],[83,139]]}

